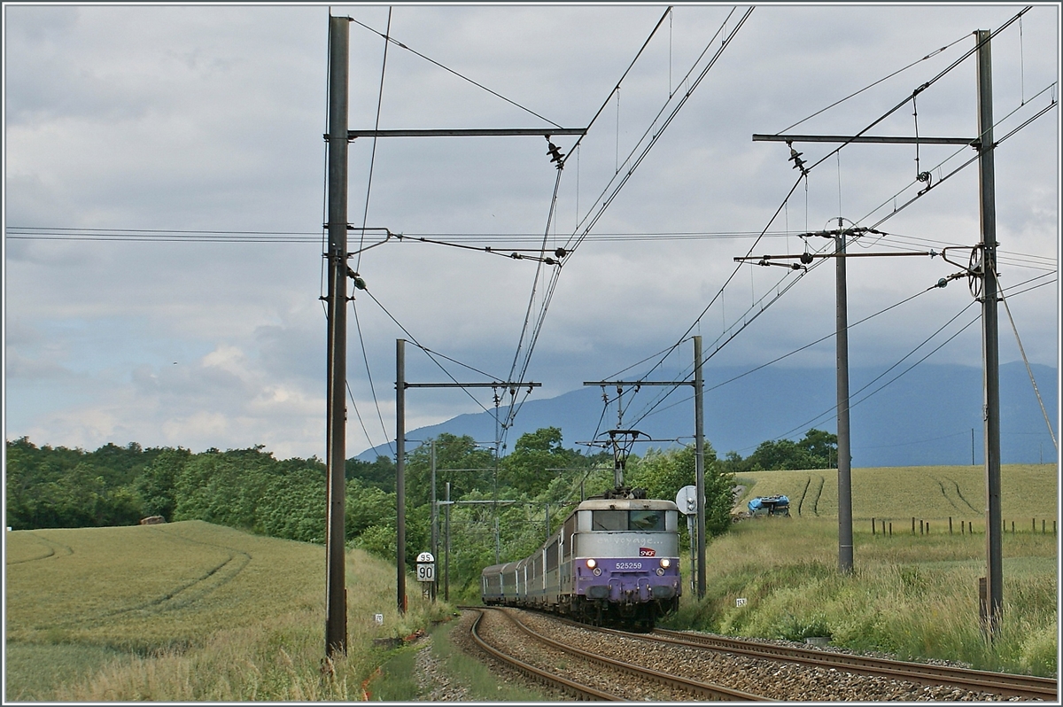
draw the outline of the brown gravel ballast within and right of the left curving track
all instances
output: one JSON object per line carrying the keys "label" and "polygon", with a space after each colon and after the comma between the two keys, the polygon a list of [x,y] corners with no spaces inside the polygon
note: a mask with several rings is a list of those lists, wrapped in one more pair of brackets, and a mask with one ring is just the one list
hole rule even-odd
{"label": "brown gravel ballast within and right of the left curving track", "polygon": [[[489,611],[485,621],[496,612]],[[635,664],[652,668],[665,673],[680,675],[703,683],[712,683],[736,690],[760,694],[780,701],[1017,701],[1016,697],[1006,697],[986,692],[973,692],[948,686],[924,686],[907,680],[870,675],[858,675],[845,670],[821,667],[807,667],[780,660],[748,658],[727,653],[697,650],[687,646],[653,644],[639,639],[622,636],[610,636],[603,640],[602,634],[577,626],[570,626],[555,621],[551,617],[530,612],[520,612],[521,621],[534,630],[550,638],[561,641],[573,647],[600,653],[602,655],[624,660]],[[564,674],[570,679],[584,681],[580,668],[573,658],[563,658],[553,649],[528,645],[518,628],[509,624],[503,617],[494,617],[487,624],[485,637],[495,645],[506,645],[507,650],[518,652],[518,657],[537,666],[559,667],[562,662]],[[483,626],[484,624],[482,624]],[[538,656],[538,657],[536,657]],[[606,691],[607,685],[617,685],[615,678],[596,678],[593,673],[603,675],[601,668],[589,671],[593,685]],[[630,686],[630,678],[623,683]],[[623,696],[629,700],[690,700],[689,694],[668,693],[663,688],[640,688],[631,686]]]}

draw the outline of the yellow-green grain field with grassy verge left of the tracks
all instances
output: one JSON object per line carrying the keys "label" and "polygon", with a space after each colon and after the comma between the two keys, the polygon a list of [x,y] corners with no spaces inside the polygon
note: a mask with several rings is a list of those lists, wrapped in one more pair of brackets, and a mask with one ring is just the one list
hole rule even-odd
{"label": "yellow-green grain field with grassy verge left of the tracks", "polygon": [[394,655],[373,639],[450,610],[411,582],[400,616],[394,568],[354,551],[350,650],[323,671],[320,545],[187,521],[9,533],[6,562],[6,701],[364,700]]}

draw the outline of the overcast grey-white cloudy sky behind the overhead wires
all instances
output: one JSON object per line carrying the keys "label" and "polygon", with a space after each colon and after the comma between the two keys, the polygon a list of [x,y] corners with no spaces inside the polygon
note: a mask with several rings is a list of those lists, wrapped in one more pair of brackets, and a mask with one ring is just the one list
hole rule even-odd
{"label": "overcast grey-white cloudy sky behind the overhead wires", "polygon": [[[405,48],[391,44],[386,63],[388,7],[333,6],[357,20],[351,129],[372,129],[378,116],[381,129],[549,132],[552,123],[586,128],[603,108],[577,150],[574,136],[553,137],[568,155],[560,182],[542,136],[351,145],[356,226],[507,253],[544,238],[550,251],[571,246],[593,228],[559,273],[533,259],[395,238],[352,258],[369,290],[356,292],[350,310],[357,416],[352,409],[348,450],[393,437],[396,338],[475,369],[437,356],[444,373],[411,343],[409,381],[519,375],[529,301],[534,325],[551,283],[524,372],[542,383],[537,398],[614,376],[688,332],[713,354],[710,371],[752,368],[830,334],[833,262],[802,274],[733,258],[750,249],[832,248],[819,237],[806,246],[799,234],[836,228],[839,217],[889,234],[862,238],[849,246],[855,252],[973,246],[977,163],[950,175],[974,156],[969,147],[849,145],[833,154],[834,145],[796,144],[815,165],[800,180],[784,144],[752,135],[856,134],[960,61],[974,31],[996,30],[1022,7],[760,6],[743,22],[746,6],[679,5],[618,95],[664,5],[396,5],[390,35]],[[323,457],[328,7],[3,10],[6,438],[84,449],[263,443],[282,458]],[[994,38],[997,139],[1058,98],[1059,30],[1058,4],[1034,5]],[[868,134],[912,136],[917,128],[921,136],[975,137],[975,70],[967,57],[919,92],[914,111],[905,103]],[[1053,367],[1059,136],[1053,107],[995,151],[1000,282],[1013,288],[1009,305],[1027,355]],[[921,171],[930,191],[891,216],[926,186]],[[96,231],[78,231],[85,229]],[[133,240],[123,230],[155,233]],[[233,242],[233,232],[288,235]],[[352,232],[351,250],[357,243]],[[965,265],[968,251],[947,255]],[[850,258],[849,321],[959,270],[941,257]],[[776,293],[730,338],[750,307],[759,312]],[[971,302],[960,279],[855,326],[851,364],[893,365]],[[929,347],[976,315],[977,305],[967,308]],[[1002,307],[1000,317],[1001,361],[1018,360]],[[690,356],[685,341],[664,368],[679,370]],[[833,360],[828,338],[777,365]],[[928,363],[980,366],[977,323]],[[459,390],[414,390],[407,425],[492,405],[489,390],[473,394],[478,403]]]}

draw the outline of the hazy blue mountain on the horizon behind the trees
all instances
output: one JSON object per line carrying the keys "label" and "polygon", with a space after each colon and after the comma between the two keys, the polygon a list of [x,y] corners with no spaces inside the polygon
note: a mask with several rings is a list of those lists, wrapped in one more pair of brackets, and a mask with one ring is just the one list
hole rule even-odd
{"label": "hazy blue mountain on the horizon behind the trees", "polygon": [[[1032,366],[1045,408],[1059,435],[1057,369]],[[705,436],[716,454],[736,451],[748,456],[765,439],[799,439],[811,427],[836,432],[834,370],[767,367],[727,383],[748,369],[712,368],[705,371]],[[850,431],[854,467],[908,467],[969,465],[972,430],[975,462],[982,464],[982,371],[967,366],[916,366],[884,388],[868,393],[899,371],[871,383],[880,369],[849,371]],[[658,372],[651,380],[673,380],[674,372]],[[870,385],[868,385],[870,384]],[[719,386],[719,387],[716,387]],[[867,389],[860,392],[861,388]],[[654,439],[684,439],[694,434],[693,391],[672,393],[642,420],[636,419],[657,395],[667,390],[644,387],[627,408],[624,426]],[[615,391],[610,390],[610,395]],[[862,400],[863,398],[866,400]],[[626,397],[625,397],[626,403]],[[505,416],[506,408],[500,408]],[[601,424],[598,421],[601,420]],[[617,426],[617,406],[603,415],[602,391],[587,387],[547,400],[529,399],[507,436],[511,450],[525,432],[560,427],[566,447],[589,441]],[[485,441],[494,438],[494,416],[459,415],[436,425],[410,430],[407,439],[428,439],[440,433],[469,435]],[[792,431],[792,432],[791,432]],[[672,443],[674,444],[674,442]],[[656,447],[669,447],[658,442]],[[638,445],[640,454],[646,445]],[[1000,367],[1000,447],[1003,464],[1037,464],[1057,457],[1037,399],[1022,363]],[[584,448],[586,449],[586,448]],[[369,449],[358,458],[388,456],[387,445]]]}

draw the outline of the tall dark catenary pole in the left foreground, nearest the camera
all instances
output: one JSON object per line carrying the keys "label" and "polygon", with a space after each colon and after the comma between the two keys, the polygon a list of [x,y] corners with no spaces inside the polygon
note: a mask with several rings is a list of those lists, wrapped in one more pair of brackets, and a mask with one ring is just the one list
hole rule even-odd
{"label": "tall dark catenary pole in the left foreground, nearest the camera", "polygon": [[328,294],[325,361],[327,510],[325,655],[347,653],[347,147],[350,18],[328,18]]}

